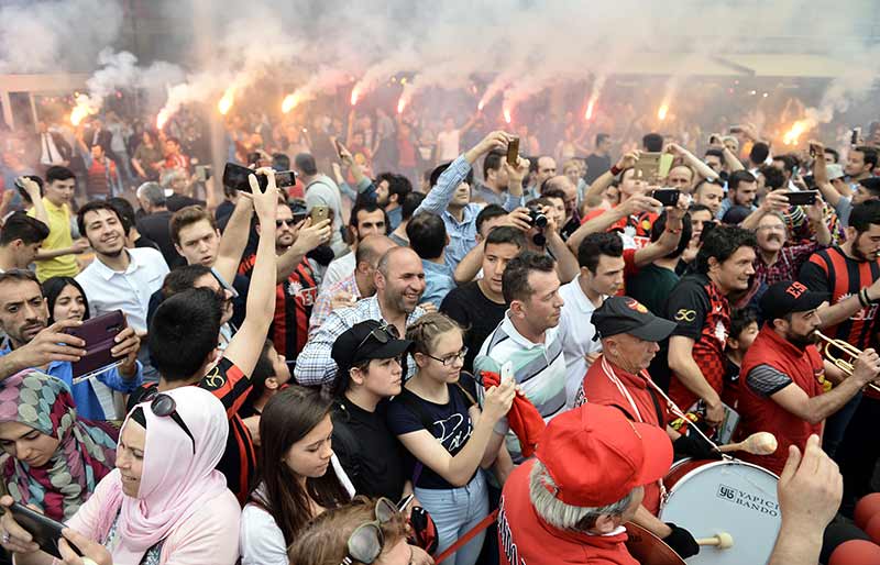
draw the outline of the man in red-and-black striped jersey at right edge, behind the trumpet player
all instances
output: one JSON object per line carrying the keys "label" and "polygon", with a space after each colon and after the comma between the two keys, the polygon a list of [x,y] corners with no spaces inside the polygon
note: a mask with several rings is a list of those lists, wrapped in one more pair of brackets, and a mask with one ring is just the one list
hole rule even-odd
{"label": "man in red-and-black striped jersey at right edge, behind the trumpet player", "polygon": [[[880,303],[880,201],[853,207],[846,242],[814,253],[799,279],[810,290],[827,292],[831,306],[820,311],[822,333],[859,350],[877,345]],[[844,510],[868,494],[880,444],[871,430],[880,419],[880,395],[857,395],[825,426],[824,448],[844,475]]]}

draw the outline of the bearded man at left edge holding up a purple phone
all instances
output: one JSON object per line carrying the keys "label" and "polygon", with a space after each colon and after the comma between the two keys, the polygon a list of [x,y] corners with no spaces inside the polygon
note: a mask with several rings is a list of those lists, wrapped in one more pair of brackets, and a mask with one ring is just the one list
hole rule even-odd
{"label": "bearded man at left edge holding up a purple phone", "polygon": [[[85,351],[79,348],[80,340],[64,332],[78,323],[62,321],[46,329],[47,322],[46,300],[33,273],[26,269],[12,269],[0,274],[0,330],[7,334],[0,344],[2,359],[0,376],[7,377],[12,373],[35,367],[64,380],[70,387],[80,418],[87,420],[106,420],[108,416],[112,418],[112,405],[107,399],[103,399],[105,402],[101,401],[96,394],[96,384],[91,379],[74,384],[70,362],[79,361]],[[138,388],[141,385],[139,345],[140,341],[131,328],[119,332],[110,353],[122,363],[101,373],[95,377],[96,380],[123,394]],[[47,354],[35,356],[36,348]]]}

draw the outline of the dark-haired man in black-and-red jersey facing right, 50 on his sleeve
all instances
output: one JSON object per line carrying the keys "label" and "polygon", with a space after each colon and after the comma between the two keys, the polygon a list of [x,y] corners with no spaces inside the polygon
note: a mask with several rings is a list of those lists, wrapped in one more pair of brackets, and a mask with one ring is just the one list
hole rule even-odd
{"label": "dark-haired man in black-and-red jersey facing right, 50 on his sleeve", "polygon": [[730,326],[728,296],[745,292],[755,274],[755,234],[721,225],[696,255],[696,272],[685,275],[667,302],[668,320],[678,323],[669,339],[669,395],[684,411],[702,400],[705,421],[724,419],[722,401],[733,406],[736,390],[725,383],[724,347]]}

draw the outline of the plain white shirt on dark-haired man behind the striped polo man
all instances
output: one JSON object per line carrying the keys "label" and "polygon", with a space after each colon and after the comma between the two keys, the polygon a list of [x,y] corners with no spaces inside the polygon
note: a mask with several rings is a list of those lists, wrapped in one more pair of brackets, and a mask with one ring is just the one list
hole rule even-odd
{"label": "plain white shirt on dark-haired man behind the striped polo man", "polygon": [[[565,406],[574,407],[578,390],[590,368],[584,355],[602,351],[602,343],[593,341],[596,328],[593,325],[593,311],[597,308],[586,298],[580,285],[581,276],[562,285],[559,296],[565,301],[559,319],[559,339],[565,356]],[[604,297],[603,297],[604,298]]]}

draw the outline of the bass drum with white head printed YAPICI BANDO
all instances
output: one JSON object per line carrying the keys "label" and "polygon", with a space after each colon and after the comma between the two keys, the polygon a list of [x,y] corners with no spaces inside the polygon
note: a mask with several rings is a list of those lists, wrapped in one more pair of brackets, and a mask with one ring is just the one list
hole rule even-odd
{"label": "bass drum with white head printed YAPICI BANDO", "polygon": [[660,519],[697,540],[721,532],[733,536],[733,547],[703,545],[689,565],[766,564],[782,525],[778,483],[769,470],[741,461],[683,459],[663,479]]}

